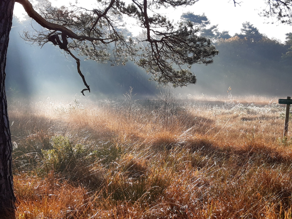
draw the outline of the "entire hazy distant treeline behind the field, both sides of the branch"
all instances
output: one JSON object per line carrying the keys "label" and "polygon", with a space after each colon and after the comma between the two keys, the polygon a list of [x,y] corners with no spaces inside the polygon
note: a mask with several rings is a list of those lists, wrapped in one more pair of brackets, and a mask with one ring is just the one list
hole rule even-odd
{"label": "entire hazy distant treeline behind the field, both sides of the branch", "polygon": [[[67,59],[53,45],[40,49],[19,37],[24,28],[32,28],[29,22],[13,20],[6,66],[8,95],[79,93],[84,85],[71,57]],[[236,95],[291,95],[292,33],[286,34],[285,42],[280,42],[245,22],[241,33],[232,37],[228,31],[219,32],[217,25],[211,26],[204,14],[191,12],[182,15],[182,22],[197,28],[199,35],[211,38],[219,55],[208,66],[194,65],[191,70],[197,75],[197,84],[177,92],[227,94],[231,87]],[[111,66],[86,60],[81,62],[81,71],[91,86],[91,95],[112,97],[125,93],[129,87],[140,95],[158,93],[157,84],[148,81],[150,75],[131,62]]]}

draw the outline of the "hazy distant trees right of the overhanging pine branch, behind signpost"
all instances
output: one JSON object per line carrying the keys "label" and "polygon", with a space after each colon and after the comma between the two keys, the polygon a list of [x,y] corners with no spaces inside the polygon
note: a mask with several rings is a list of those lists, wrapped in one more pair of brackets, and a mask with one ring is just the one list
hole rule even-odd
{"label": "hazy distant trees right of the overhanging pine branch, behind signpost", "polygon": [[227,94],[229,87],[236,95],[292,94],[292,33],[280,42],[245,22],[241,33],[232,37],[228,31],[219,32],[217,25],[211,26],[204,14],[188,12],[182,19],[199,28],[202,36],[211,38],[219,50],[214,63],[192,67],[198,79],[192,89],[207,94]]}

